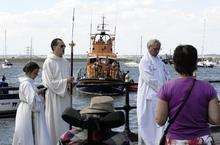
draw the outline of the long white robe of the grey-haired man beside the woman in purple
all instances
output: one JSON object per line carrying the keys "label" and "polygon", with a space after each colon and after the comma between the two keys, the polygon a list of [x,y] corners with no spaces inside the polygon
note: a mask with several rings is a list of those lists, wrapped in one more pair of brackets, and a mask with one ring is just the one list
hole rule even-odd
{"label": "long white robe of the grey-haired man beside the woman in purple", "polygon": [[155,122],[156,94],[167,78],[165,64],[158,56],[153,57],[147,52],[139,63],[137,91],[139,145],[140,137],[146,145],[158,145],[161,138],[163,127],[159,127]]}

